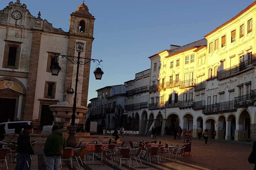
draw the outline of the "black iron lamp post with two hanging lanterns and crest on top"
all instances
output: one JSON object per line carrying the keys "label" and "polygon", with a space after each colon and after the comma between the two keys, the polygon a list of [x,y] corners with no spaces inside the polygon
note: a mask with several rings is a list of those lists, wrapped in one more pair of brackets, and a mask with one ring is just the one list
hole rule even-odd
{"label": "black iron lamp post with two hanging lanterns and crest on top", "polygon": [[[75,111],[76,111],[76,106],[77,106],[77,83],[78,83],[78,72],[79,72],[79,66],[80,65],[85,65],[89,62],[98,62],[98,66],[100,65],[100,62],[102,62],[102,60],[96,60],[96,59],[90,59],[90,58],[84,58],[84,57],[80,57],[80,54],[81,52],[83,52],[84,50],[84,43],[83,42],[80,42],[80,41],[77,41],[76,42],[76,51],[78,52],[78,56],[67,56],[67,55],[60,55],[60,54],[55,54],[56,57],[59,57],[61,56],[61,58],[66,58],[68,59],[70,62],[72,62],[73,64],[76,64],[77,65],[77,74],[76,74],[76,79],[75,79],[75,97],[74,97],[74,103],[73,103],[73,108],[72,108],[72,115],[71,115],[71,125],[68,126],[68,139],[66,140],[66,143],[67,143],[67,146],[71,146],[71,147],[74,147],[77,142],[75,140],[75,131],[77,129],[77,127],[75,126]],[[69,58],[74,58],[74,59],[77,59],[77,60],[74,60],[72,61],[71,59]],[[87,62],[83,62],[83,61],[80,61],[80,59],[84,59],[84,60],[89,60]],[[51,64],[50,66],[50,69],[51,69],[51,73],[52,75],[54,76],[57,76],[61,70],[60,66],[59,66],[59,63],[53,63]],[[100,67],[96,68],[95,71],[93,72],[94,75],[95,75],[95,78],[96,80],[101,80],[101,77],[103,75],[103,71],[101,70]]]}

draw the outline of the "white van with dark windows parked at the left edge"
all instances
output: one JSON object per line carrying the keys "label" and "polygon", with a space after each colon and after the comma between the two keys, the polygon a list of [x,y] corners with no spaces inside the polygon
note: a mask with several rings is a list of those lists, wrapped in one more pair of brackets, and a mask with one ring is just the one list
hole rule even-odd
{"label": "white van with dark windows parked at the left edge", "polygon": [[14,130],[15,130],[16,127],[18,127],[18,126],[23,127],[23,126],[26,126],[27,124],[32,126],[32,121],[4,122],[4,123],[0,123],[0,127],[4,127],[6,134],[12,134],[12,133],[14,133]]}

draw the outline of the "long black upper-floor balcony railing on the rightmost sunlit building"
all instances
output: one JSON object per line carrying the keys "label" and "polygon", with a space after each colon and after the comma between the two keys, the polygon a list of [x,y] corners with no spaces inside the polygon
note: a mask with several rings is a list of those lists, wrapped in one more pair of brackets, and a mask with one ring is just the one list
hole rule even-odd
{"label": "long black upper-floor balcony railing on the rightmost sunlit building", "polygon": [[217,80],[233,76],[237,73],[240,73],[241,71],[243,71],[245,69],[253,68],[252,63],[254,63],[254,61],[255,61],[255,57],[253,57],[249,60],[245,60],[244,62],[239,63],[235,66],[232,66],[230,68],[218,71],[217,72]]}

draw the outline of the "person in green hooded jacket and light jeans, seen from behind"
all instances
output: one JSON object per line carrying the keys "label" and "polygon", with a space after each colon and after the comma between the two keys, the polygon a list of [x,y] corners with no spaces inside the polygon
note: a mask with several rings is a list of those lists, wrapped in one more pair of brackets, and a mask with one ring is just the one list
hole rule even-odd
{"label": "person in green hooded jacket and light jeans, seen from behind", "polygon": [[59,170],[60,169],[60,157],[62,150],[66,147],[66,140],[63,136],[60,127],[54,125],[52,127],[52,133],[47,137],[44,145],[44,154],[47,156],[45,163],[47,170]]}

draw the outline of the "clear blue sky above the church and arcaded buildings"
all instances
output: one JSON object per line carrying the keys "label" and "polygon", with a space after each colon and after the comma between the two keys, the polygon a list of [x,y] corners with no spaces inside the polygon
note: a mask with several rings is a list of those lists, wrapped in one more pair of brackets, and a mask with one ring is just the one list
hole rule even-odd
{"label": "clear blue sky above the church and arcaded buildings", "polygon": [[[1,0],[0,9],[10,0]],[[16,2],[16,0],[14,0]],[[69,16],[82,0],[20,0],[32,15],[52,23],[56,28],[69,30]],[[96,89],[123,84],[134,79],[135,73],[150,68],[149,56],[170,44],[184,45],[199,39],[253,1],[173,1],[173,0],[85,0],[95,16],[92,58],[102,59],[104,75],[95,80],[91,64],[89,96]]]}

